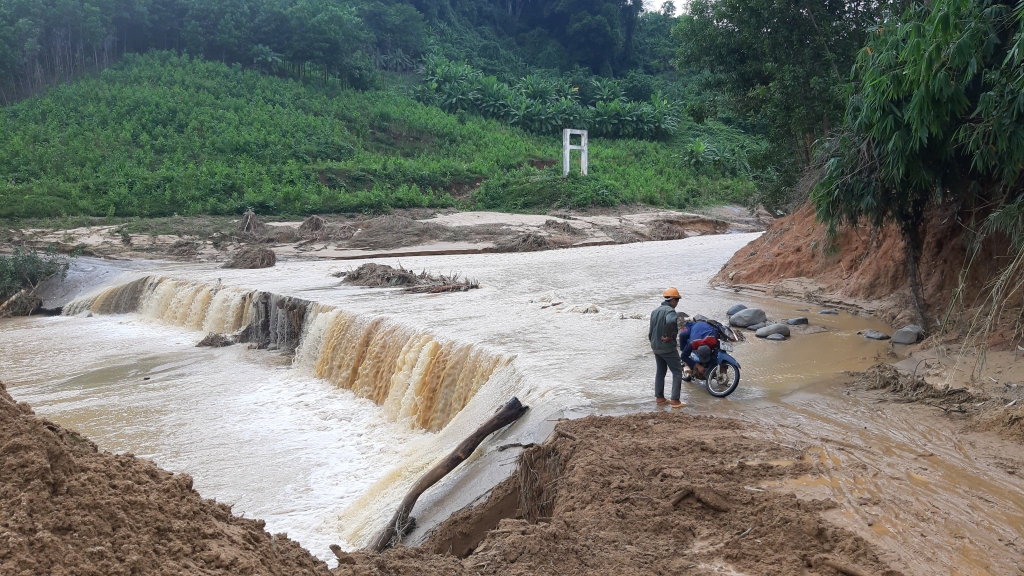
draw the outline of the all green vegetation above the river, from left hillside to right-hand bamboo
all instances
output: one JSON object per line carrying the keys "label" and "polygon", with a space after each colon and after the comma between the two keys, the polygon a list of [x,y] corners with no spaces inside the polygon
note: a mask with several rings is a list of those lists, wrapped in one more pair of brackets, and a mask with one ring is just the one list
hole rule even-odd
{"label": "all green vegetation above the river, from left hillside to right-hand bamboo", "polygon": [[[87,78],[3,109],[0,214],[776,209],[825,173],[831,223],[913,246],[955,201],[1024,238],[1022,6],[4,2],[0,98]],[[595,137],[589,178],[550,166],[567,126]]]}

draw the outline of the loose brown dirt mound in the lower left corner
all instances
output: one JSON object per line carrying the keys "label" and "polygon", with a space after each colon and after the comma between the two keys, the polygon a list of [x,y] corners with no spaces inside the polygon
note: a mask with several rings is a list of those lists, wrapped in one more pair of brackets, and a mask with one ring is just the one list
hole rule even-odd
{"label": "loose brown dirt mound in the lower left corner", "polygon": [[203,499],[191,478],[100,453],[0,383],[0,574],[322,574],[263,522]]}

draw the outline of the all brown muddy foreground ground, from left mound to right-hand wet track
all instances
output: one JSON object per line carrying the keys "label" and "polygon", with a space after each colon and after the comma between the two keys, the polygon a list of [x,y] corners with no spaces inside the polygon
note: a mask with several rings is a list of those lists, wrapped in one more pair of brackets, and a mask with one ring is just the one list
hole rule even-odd
{"label": "all brown muddy foreground ground, from left mound to right-hand wet track", "polygon": [[[833,396],[809,408],[846,417],[846,427],[781,408],[740,410],[739,418],[664,409],[561,421],[543,445],[518,455],[509,447],[507,465],[517,472],[423,545],[342,553],[333,572],[1024,569],[1019,363],[998,353],[971,380],[935,349],[914,354],[899,368],[848,375],[839,399],[850,403]],[[203,499],[189,480],[98,452],[0,386],[2,574],[327,574],[286,535]]]}

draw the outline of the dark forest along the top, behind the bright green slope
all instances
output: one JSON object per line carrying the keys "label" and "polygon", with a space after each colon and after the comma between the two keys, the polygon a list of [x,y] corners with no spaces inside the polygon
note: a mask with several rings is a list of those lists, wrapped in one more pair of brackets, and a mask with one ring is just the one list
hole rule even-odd
{"label": "dark forest along the top, behind the bright green slope", "polygon": [[355,87],[429,51],[503,79],[652,72],[669,51],[659,17],[641,0],[10,0],[0,3],[0,99],[152,49]]}

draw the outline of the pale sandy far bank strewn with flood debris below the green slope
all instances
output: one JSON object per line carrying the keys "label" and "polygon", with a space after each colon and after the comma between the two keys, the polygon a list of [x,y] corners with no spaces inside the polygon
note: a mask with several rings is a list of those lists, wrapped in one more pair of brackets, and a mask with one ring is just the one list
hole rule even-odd
{"label": "pale sandy far bank strewn with flood debris below the green slope", "polygon": [[301,220],[259,218],[242,232],[240,218],[188,216],[126,220],[97,218],[10,221],[0,227],[0,250],[24,244],[79,250],[106,258],[228,261],[248,246],[272,249],[285,259],[355,259],[389,255],[516,252],[652,240],[725,232],[758,232],[771,216],[763,210],[720,206],[703,213],[647,206],[589,212],[503,214],[454,210],[399,210],[383,216],[326,215],[316,231]]}

